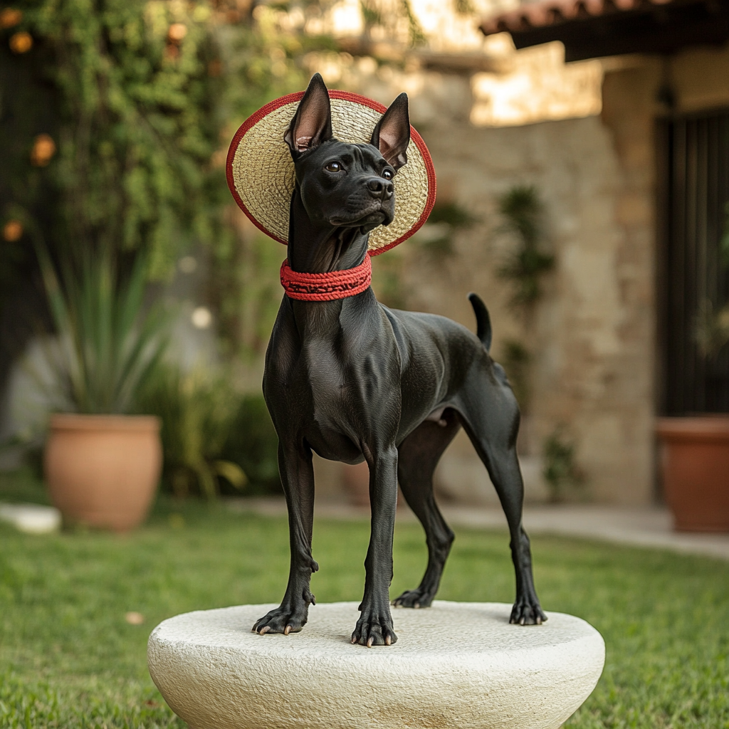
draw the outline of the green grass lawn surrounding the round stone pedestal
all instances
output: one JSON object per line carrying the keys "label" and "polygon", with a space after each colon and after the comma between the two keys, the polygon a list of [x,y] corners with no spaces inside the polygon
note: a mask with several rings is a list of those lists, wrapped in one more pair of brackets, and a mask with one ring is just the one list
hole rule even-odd
{"label": "green grass lawn surrounding the round stone pedestal", "polygon": [[[0,501],[43,499],[30,476],[0,475]],[[364,521],[316,523],[317,601],[361,599],[368,534]],[[507,542],[457,529],[439,597],[512,601]],[[543,607],[585,618],[607,644],[566,726],[729,728],[728,563],[556,537],[532,549]],[[424,562],[421,529],[398,525],[393,596]],[[180,612],[278,601],[287,572],[286,520],[219,504],[160,499],[126,536],[0,525],[0,727],[184,727],[147,674],[149,632]],[[144,623],[129,625],[129,611]]]}

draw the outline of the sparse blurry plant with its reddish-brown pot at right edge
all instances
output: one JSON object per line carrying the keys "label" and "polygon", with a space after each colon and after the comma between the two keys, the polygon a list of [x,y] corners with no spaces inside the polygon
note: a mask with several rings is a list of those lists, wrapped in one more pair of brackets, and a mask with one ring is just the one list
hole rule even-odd
{"label": "sparse blurry plant with its reddish-brown pot at right edge", "polygon": [[[727,232],[720,243],[729,268]],[[708,360],[729,345],[729,303],[718,310],[705,300],[699,307],[695,340]],[[666,502],[678,531],[729,531],[729,413],[658,418],[660,470]]]}

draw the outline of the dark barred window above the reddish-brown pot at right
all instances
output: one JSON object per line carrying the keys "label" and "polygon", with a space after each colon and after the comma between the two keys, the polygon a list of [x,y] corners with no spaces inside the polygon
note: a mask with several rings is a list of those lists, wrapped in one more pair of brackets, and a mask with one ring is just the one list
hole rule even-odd
{"label": "dark barred window above the reddish-brown pot at right", "polygon": [[659,409],[729,412],[729,344],[705,354],[699,343],[729,304],[729,110],[660,122],[658,139]]}

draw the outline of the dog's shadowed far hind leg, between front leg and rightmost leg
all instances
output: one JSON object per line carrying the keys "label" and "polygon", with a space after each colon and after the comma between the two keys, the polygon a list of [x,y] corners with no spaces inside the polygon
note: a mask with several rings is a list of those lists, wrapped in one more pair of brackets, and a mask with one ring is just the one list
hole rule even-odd
{"label": "dog's shadowed far hind leg, between front leg and rightmost leg", "polygon": [[398,448],[397,477],[405,501],[425,529],[428,566],[420,585],[406,590],[392,602],[396,607],[430,607],[440,585],[443,566],[453,544],[453,531],[435,503],[433,472],[460,427],[456,413],[447,409],[440,421],[421,423]]}

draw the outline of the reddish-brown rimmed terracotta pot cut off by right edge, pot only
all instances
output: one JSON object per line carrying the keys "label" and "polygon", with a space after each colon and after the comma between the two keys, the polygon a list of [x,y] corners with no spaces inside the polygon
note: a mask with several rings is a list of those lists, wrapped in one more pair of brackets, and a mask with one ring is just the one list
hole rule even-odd
{"label": "reddish-brown rimmed terracotta pot cut off by right edge, pot only", "polygon": [[729,416],[659,418],[663,491],[677,531],[729,531]]}

